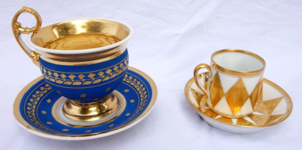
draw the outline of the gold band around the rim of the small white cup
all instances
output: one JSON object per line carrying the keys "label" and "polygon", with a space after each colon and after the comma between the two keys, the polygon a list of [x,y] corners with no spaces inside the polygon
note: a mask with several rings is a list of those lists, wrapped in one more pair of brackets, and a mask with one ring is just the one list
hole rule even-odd
{"label": "gold band around the rim of the small white cup", "polygon": [[[228,68],[224,68],[224,67],[218,65],[213,60],[213,57],[215,55],[220,54],[220,53],[224,53],[224,52],[238,52],[238,53],[244,53],[244,54],[256,57],[257,59],[259,59],[262,62],[263,66],[262,66],[261,69],[255,70],[255,71],[235,71],[235,70],[231,70],[231,69],[228,69]],[[260,57],[259,55],[255,54],[255,53],[252,53],[252,52],[249,52],[249,51],[246,51],[246,50],[241,50],[241,49],[222,49],[222,50],[218,50],[218,51],[214,52],[211,56],[211,66],[213,66],[214,68],[217,68],[218,70],[220,70],[222,72],[232,74],[234,76],[242,76],[242,77],[257,76],[257,75],[262,74],[264,72],[265,65],[266,65],[265,61],[262,57]]]}

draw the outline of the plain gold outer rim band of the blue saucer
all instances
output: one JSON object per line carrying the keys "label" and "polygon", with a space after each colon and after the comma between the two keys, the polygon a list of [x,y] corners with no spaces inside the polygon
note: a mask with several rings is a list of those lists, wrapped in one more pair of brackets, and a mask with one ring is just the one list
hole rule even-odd
{"label": "plain gold outer rim band of the blue saucer", "polygon": [[115,128],[115,129],[111,129],[111,130],[107,130],[107,131],[103,131],[103,132],[98,132],[98,133],[85,134],[85,135],[62,135],[62,134],[58,135],[58,134],[52,134],[52,133],[44,132],[44,131],[41,131],[41,130],[38,130],[38,129],[34,128],[33,126],[28,124],[22,118],[19,107],[20,107],[20,101],[21,101],[22,97],[24,96],[24,94],[26,93],[26,91],[30,87],[32,87],[35,83],[42,80],[43,79],[42,76],[38,77],[37,79],[33,80],[28,85],[26,85],[20,91],[18,96],[16,97],[15,102],[14,102],[14,106],[13,106],[13,113],[14,113],[15,119],[17,120],[18,124],[22,128],[28,130],[29,132],[31,132],[33,134],[36,134],[36,135],[39,135],[39,134],[48,135],[48,138],[50,138],[49,136],[51,136],[51,138],[54,138],[54,139],[67,139],[67,137],[74,137],[74,136],[75,136],[74,138],[97,136],[98,134],[104,134],[104,133],[108,133],[108,132],[111,132],[111,131],[114,131],[114,130],[118,130],[118,129],[124,128],[125,126],[128,126],[128,125],[130,125],[130,124],[132,124],[136,121],[140,121],[143,117],[145,117],[145,115],[147,115],[153,109],[154,104],[156,103],[157,95],[158,95],[157,87],[156,87],[155,82],[152,80],[152,78],[150,78],[146,73],[144,73],[144,72],[142,72],[142,71],[140,71],[136,68],[130,67],[130,66],[128,67],[128,69],[140,74],[140,76],[142,76],[149,83],[149,85],[152,89],[152,99],[150,100],[149,105],[147,106],[147,108],[145,108],[145,110],[142,112],[142,114],[140,114],[137,118],[135,118],[134,120],[132,120],[131,122],[129,122],[125,125],[122,125],[122,126],[120,126],[118,128]]}

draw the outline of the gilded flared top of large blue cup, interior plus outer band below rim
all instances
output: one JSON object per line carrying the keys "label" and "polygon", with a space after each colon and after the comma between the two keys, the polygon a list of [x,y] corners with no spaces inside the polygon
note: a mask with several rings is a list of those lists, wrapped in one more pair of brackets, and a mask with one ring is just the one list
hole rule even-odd
{"label": "gilded flared top of large blue cup, interior plus outer band below rim", "polygon": [[[41,28],[31,37],[40,47],[54,50],[83,50],[108,46],[125,39],[130,29],[124,24],[104,19],[82,19],[52,24]],[[120,46],[91,53],[57,54],[36,49],[42,56],[65,62],[91,61],[106,58],[125,50]]]}

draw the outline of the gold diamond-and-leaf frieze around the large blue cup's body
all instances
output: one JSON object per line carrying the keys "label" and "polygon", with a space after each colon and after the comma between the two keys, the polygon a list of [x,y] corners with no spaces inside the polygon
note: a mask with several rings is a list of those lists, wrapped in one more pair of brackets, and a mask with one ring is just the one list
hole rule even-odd
{"label": "gold diamond-and-leaf frieze around the large blue cup's body", "polygon": [[[109,79],[118,77],[128,66],[128,56],[123,63],[118,63],[109,68],[95,72],[68,73],[48,69],[40,64],[40,69],[44,79],[63,85],[91,85],[105,82]],[[69,75],[68,75],[69,74]]]}

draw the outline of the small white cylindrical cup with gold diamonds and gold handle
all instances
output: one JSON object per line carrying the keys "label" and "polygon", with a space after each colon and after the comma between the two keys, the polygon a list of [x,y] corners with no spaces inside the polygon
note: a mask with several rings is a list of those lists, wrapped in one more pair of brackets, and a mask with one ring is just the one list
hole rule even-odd
{"label": "small white cylindrical cup with gold diamonds and gold handle", "polygon": [[[205,88],[199,85],[197,77],[202,68],[209,71]],[[257,104],[264,69],[264,59],[255,53],[222,49],[212,54],[210,65],[201,63],[195,67],[194,79],[212,111],[224,117],[243,118]]]}

